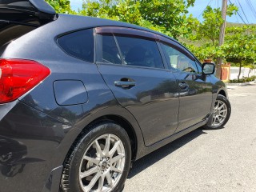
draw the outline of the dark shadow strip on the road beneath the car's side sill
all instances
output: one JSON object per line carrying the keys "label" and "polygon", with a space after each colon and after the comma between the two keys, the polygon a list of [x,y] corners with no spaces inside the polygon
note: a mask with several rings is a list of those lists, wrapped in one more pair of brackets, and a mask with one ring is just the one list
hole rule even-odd
{"label": "dark shadow strip on the road beneath the car's side sill", "polygon": [[202,129],[197,129],[189,134],[178,138],[174,142],[170,142],[166,146],[162,146],[160,149],[155,150],[154,152],[147,154],[145,157],[138,159],[134,162],[133,168],[128,174],[128,178],[133,178],[136,174],[140,173],[142,170],[145,170],[147,167],[152,166],[155,162],[158,162],[166,155],[171,154],[175,150],[178,150],[180,147],[185,146],[186,143],[192,141],[194,138],[198,138],[201,134],[207,134]]}

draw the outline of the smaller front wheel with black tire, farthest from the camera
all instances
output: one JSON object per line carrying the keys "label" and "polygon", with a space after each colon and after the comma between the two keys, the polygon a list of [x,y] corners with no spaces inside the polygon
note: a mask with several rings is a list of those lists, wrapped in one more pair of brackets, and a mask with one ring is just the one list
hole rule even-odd
{"label": "smaller front wheel with black tire, farthest from the camera", "polygon": [[226,125],[231,114],[231,106],[229,100],[221,94],[218,94],[214,103],[214,110],[210,114],[209,122],[203,126],[204,129],[218,130]]}

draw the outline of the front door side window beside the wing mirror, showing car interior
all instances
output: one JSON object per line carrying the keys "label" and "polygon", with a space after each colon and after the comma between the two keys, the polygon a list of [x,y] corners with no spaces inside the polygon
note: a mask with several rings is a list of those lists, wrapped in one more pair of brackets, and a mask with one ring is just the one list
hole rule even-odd
{"label": "front door side window beside the wing mirror, showing car interior", "polygon": [[168,65],[175,70],[182,72],[198,73],[198,68],[193,60],[188,58],[182,52],[174,49],[171,46],[161,43],[162,50],[166,55]]}

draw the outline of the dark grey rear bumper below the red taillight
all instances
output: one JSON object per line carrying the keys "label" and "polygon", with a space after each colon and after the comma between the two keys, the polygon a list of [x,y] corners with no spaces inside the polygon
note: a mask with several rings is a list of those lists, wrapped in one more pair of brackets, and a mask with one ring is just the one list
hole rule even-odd
{"label": "dark grey rear bumper below the red taillight", "polygon": [[72,129],[22,102],[0,105],[1,191],[58,192]]}

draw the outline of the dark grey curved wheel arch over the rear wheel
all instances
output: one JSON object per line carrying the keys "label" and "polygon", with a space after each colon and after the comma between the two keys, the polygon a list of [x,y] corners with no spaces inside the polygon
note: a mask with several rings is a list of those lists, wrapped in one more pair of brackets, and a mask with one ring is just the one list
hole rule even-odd
{"label": "dark grey curved wheel arch over the rear wheel", "polygon": [[87,118],[83,118],[80,122],[76,123],[72,130],[68,131],[65,138],[58,146],[57,166],[61,166],[65,163],[66,158],[70,154],[72,146],[78,142],[78,139],[80,139],[83,134],[88,133],[88,127],[101,121],[116,122],[119,126],[122,126],[122,128],[126,130],[131,142],[132,162],[141,156],[140,154],[145,148],[145,144],[142,131],[138,126],[138,122],[126,109],[119,106],[112,106],[99,110],[95,114],[90,114]]}

